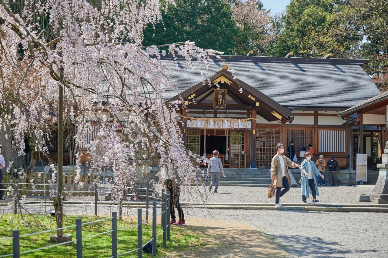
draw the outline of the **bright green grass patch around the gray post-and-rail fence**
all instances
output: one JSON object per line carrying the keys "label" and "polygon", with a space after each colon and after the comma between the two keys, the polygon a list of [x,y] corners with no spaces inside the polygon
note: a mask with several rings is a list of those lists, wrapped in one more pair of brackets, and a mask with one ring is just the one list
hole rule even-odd
{"label": "bright green grass patch around the gray post-and-rail fence", "polygon": [[[63,226],[75,225],[75,219],[81,218],[82,222],[90,222],[107,218],[107,216],[78,216],[78,215],[64,215]],[[127,220],[125,220],[127,219]],[[137,225],[137,221],[123,218],[122,221],[118,220],[117,227],[129,227],[131,225]],[[12,236],[12,230],[19,230],[20,235],[30,234],[34,232],[40,232],[49,229],[55,229],[55,218],[50,215],[4,215],[0,219],[0,238]],[[82,226],[82,237],[89,235],[95,235],[104,231],[111,230],[111,220],[105,220],[102,222],[95,222]],[[157,234],[162,232],[160,225],[157,227]],[[20,251],[28,251],[31,249],[41,248],[43,246],[50,246],[53,243],[50,242],[50,236],[56,234],[56,231],[32,235],[28,237],[22,237],[20,239]],[[76,239],[75,227],[64,229],[64,234],[73,235],[73,239]],[[163,235],[163,234],[162,234]],[[203,245],[201,237],[203,234],[196,234],[186,227],[179,227],[171,225],[171,241],[167,241],[167,248],[162,248],[162,235],[159,235],[157,239],[157,257],[165,257],[166,254],[172,252],[184,252],[187,248],[199,247]],[[152,238],[152,223],[149,225],[143,224],[143,244],[148,242]],[[110,257],[112,250],[112,238],[111,233],[98,235],[82,240],[83,257]],[[117,248],[118,254],[130,251],[137,248],[137,227],[129,229],[118,230],[117,233]],[[12,239],[0,241],[0,255],[12,253]],[[75,257],[76,256],[76,243],[70,243],[66,245],[54,246],[39,251],[33,251],[26,253],[23,257]],[[144,257],[152,257],[152,254],[143,253]],[[137,251],[134,251],[125,257],[137,257]]]}

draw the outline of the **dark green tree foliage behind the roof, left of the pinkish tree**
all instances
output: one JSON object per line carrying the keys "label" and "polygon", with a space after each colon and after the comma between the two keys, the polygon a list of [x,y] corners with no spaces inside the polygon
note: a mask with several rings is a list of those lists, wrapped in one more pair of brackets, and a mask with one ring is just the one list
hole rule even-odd
{"label": "dark green tree foliage behind the roof, left of the pinkish tree", "polygon": [[144,29],[143,45],[194,41],[198,47],[232,54],[236,23],[223,0],[177,0],[163,22]]}

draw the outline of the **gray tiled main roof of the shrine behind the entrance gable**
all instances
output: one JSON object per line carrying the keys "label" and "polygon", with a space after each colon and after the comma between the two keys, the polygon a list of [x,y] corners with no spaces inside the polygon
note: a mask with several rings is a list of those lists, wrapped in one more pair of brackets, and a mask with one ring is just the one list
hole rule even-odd
{"label": "gray tiled main roof of the shrine behind the entrance gable", "polygon": [[[285,107],[352,107],[379,94],[379,90],[359,60],[223,56],[235,76]],[[285,61],[287,60],[287,61]],[[171,79],[183,92],[202,81],[201,69],[184,69],[186,62],[163,58]],[[209,74],[225,63],[215,60]],[[166,90],[165,99],[177,95]]]}

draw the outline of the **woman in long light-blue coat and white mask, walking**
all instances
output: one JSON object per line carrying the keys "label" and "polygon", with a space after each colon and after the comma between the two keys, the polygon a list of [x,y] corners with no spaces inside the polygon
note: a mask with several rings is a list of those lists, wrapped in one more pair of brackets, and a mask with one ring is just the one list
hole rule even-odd
{"label": "woman in long light-blue coat and white mask, walking", "polygon": [[319,196],[317,176],[325,178],[317,169],[314,162],[311,161],[310,152],[305,153],[305,160],[300,165],[301,170],[301,191],[302,191],[302,202],[307,203],[307,198],[310,198],[310,193],[313,195],[313,203],[319,202],[316,196]]}

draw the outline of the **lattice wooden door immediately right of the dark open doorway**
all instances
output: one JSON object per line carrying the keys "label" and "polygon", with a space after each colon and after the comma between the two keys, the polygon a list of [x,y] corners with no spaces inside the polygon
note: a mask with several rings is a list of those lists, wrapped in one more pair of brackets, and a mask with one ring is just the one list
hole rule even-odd
{"label": "lattice wooden door immediately right of the dark open doorway", "polygon": [[[244,154],[242,154],[244,151]],[[245,168],[245,129],[230,130],[230,168]]]}

